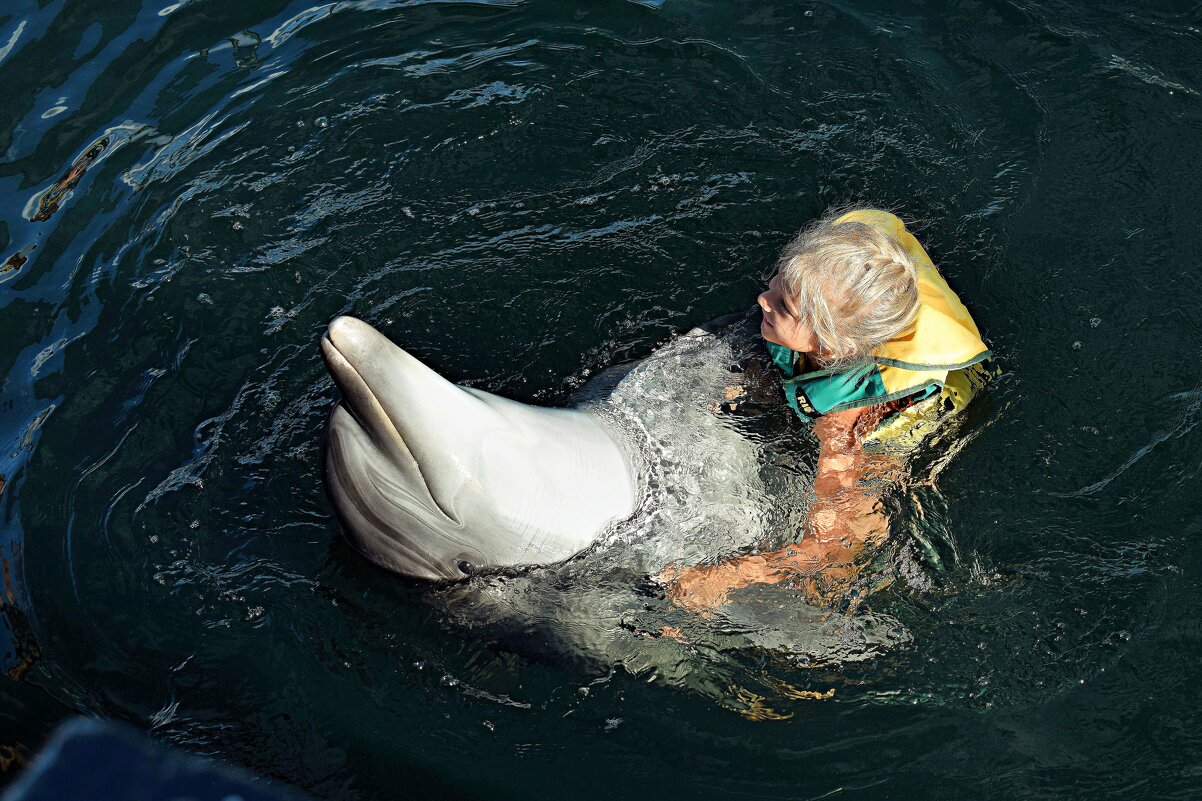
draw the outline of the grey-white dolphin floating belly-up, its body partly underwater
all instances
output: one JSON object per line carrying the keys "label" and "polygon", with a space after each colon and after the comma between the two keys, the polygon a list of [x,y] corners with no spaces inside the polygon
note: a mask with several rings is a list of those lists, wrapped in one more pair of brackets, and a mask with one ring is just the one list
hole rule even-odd
{"label": "grey-white dolphin floating belly-up, its body partly underwater", "polygon": [[[343,397],[323,450],[343,533],[375,564],[433,580],[423,598],[456,629],[597,675],[620,665],[724,706],[742,708],[732,687],[756,686],[764,652],[789,665],[873,658],[910,639],[889,615],[815,609],[775,585],[738,591],[702,619],[648,581],[780,544],[798,526],[809,445],[761,372],[758,342],[754,312],[728,315],[551,409],[457,386],[367,322],[337,318],[321,351]],[[732,384],[773,400],[715,413]]]}

